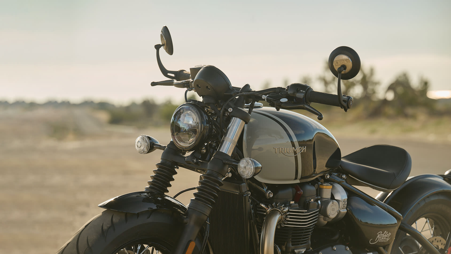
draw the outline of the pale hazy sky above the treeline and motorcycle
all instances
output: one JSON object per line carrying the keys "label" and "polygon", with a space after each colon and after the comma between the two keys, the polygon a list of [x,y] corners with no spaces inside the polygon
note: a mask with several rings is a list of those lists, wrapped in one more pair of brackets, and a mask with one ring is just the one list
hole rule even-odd
{"label": "pale hazy sky above the treeline and motorcycle", "polygon": [[342,2],[0,0],[0,100],[179,101],[184,89],[150,86],[166,80],[153,48],[163,25],[167,69],[211,64],[234,86],[316,77],[346,45],[384,86],[407,71],[451,89],[450,0]]}

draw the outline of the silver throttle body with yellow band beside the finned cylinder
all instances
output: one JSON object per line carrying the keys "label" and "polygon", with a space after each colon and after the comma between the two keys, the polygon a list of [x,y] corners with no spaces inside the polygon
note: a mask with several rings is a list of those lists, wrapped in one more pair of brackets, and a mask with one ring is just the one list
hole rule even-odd
{"label": "silver throttle body with yellow band beside the finned cylinder", "polygon": [[327,221],[331,221],[340,212],[340,207],[336,200],[331,199],[332,184],[321,183],[318,186],[318,194],[320,197],[321,208],[319,210],[318,226],[326,225]]}

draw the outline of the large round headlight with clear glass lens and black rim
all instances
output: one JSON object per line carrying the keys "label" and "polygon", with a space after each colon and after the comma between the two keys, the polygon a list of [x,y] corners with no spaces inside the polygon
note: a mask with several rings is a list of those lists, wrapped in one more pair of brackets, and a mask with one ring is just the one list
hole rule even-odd
{"label": "large round headlight with clear glass lens and black rim", "polygon": [[193,151],[208,135],[207,116],[197,104],[184,103],[172,115],[170,134],[175,146]]}

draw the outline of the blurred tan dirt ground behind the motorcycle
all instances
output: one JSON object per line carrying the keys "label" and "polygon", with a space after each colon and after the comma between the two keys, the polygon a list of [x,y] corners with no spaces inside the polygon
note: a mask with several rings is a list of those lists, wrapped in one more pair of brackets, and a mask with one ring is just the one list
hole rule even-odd
{"label": "blurred tan dirt ground behind the motorcycle", "polygon": [[[163,144],[170,140],[163,129],[116,127],[108,132],[110,136],[58,141],[36,137],[32,129],[39,125],[33,122],[14,125],[21,135],[11,134],[11,126],[0,122],[0,253],[5,254],[55,253],[102,211],[97,204],[147,186],[161,151],[138,154],[134,140],[139,134],[154,136]],[[451,143],[336,138],[343,155],[371,144],[401,146],[412,156],[412,175],[442,174],[451,168]],[[178,172],[169,195],[197,185],[199,174]],[[191,197],[184,193],[179,198],[186,204]]]}

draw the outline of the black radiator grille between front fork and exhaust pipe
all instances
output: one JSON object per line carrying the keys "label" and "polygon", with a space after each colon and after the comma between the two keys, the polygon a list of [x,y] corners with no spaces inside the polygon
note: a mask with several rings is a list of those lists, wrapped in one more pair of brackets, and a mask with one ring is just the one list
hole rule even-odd
{"label": "black radiator grille between front fork and exhaust pipe", "polygon": [[220,191],[210,214],[210,236],[214,254],[249,254],[249,222],[243,195]]}

